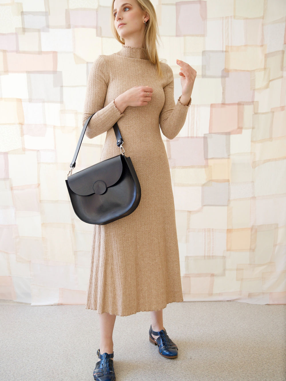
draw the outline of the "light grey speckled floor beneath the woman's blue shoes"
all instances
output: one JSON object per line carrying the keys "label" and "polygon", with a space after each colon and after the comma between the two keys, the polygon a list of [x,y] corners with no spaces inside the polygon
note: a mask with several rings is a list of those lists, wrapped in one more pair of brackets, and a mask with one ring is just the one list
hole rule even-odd
{"label": "light grey speckled floor beneath the woman's blue shoes", "polygon": [[[96,311],[5,300],[0,309],[1,381],[94,381]],[[176,359],[149,342],[149,312],[116,317],[116,381],[286,380],[286,305],[170,303],[163,316]]]}

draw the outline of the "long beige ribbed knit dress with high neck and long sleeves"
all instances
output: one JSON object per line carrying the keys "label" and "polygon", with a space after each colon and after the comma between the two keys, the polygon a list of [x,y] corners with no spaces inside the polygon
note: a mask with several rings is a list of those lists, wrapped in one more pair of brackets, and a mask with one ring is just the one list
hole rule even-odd
{"label": "long beige ribbed knit dress with high neck and long sleeves", "polygon": [[[112,126],[117,122],[141,185],[141,200],[129,216],[94,225],[86,309],[127,316],[158,311],[183,301],[174,197],[160,127],[169,139],[181,130],[190,106],[174,101],[174,75],[161,62],[159,78],[144,48],[100,55],[87,82],[83,124],[86,135],[107,131],[100,161],[120,154]],[[133,86],[153,88],[146,106],[128,106],[121,114],[114,99]]]}

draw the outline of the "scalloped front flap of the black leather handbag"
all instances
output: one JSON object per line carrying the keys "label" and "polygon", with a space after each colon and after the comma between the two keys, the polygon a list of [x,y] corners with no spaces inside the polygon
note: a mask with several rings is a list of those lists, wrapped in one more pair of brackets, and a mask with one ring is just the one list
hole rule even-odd
{"label": "scalloped front flap of the black leather handbag", "polygon": [[[103,194],[106,187],[114,185],[122,174],[121,154],[103,160],[67,177],[72,192],[81,196]],[[95,182],[98,181],[95,185]],[[104,185],[106,184],[106,186]]]}

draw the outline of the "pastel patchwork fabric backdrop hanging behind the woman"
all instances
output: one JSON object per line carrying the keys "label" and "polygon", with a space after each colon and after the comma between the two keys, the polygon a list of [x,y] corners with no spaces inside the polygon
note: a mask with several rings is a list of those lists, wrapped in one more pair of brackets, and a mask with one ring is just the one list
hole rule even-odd
{"label": "pastel patchwork fabric backdrop hanging behind the woman", "polygon": [[[0,298],[84,304],[92,225],[65,179],[110,0],[0,0]],[[286,2],[153,0],[159,57],[197,77],[170,162],[185,301],[286,303]],[[76,170],[100,160],[84,138]]]}

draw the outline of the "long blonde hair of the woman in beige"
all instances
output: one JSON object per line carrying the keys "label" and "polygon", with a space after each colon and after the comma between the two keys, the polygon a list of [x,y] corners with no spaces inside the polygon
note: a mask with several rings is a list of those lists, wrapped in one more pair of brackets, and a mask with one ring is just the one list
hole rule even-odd
{"label": "long blonde hair of the woman in beige", "polygon": [[[142,11],[146,11],[149,13],[149,20],[146,22],[145,32],[143,36],[143,43],[142,47],[145,48],[147,58],[149,61],[151,61],[153,64],[156,65],[157,73],[159,77],[162,77],[162,69],[160,65],[160,60],[157,53],[157,41],[159,37],[159,29],[157,24],[157,16],[156,11],[154,9],[153,4],[150,2],[150,0],[136,0],[137,4],[140,6]],[[116,38],[117,41],[119,41],[122,45],[124,45],[125,40],[124,38],[121,39],[119,34],[117,33],[116,27],[114,26],[114,14],[113,14],[113,4],[114,0],[112,0],[111,3],[111,30]]]}

